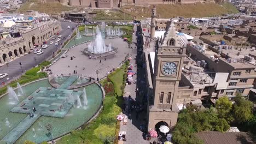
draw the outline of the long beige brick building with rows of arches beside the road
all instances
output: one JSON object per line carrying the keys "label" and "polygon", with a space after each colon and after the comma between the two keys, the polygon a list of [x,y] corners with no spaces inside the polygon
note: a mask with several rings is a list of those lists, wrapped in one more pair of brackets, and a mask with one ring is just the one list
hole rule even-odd
{"label": "long beige brick building with rows of arches beside the road", "polygon": [[19,35],[19,37],[9,36],[0,40],[1,65],[26,55],[34,45],[42,45],[44,41],[61,31],[61,23],[59,21],[40,22],[33,28],[13,26],[8,31],[10,35]]}

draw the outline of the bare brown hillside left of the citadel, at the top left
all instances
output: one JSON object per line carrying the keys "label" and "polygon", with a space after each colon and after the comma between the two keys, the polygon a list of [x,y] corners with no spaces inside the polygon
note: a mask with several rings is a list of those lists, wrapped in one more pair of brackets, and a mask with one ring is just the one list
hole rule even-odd
{"label": "bare brown hillside left of the citadel, at the top left", "polygon": [[21,7],[17,10],[18,12],[25,12],[27,10],[36,10],[40,13],[46,14],[57,14],[61,11],[68,11],[74,9],[73,7],[68,7],[59,3],[40,3],[38,0],[31,0],[22,4]]}

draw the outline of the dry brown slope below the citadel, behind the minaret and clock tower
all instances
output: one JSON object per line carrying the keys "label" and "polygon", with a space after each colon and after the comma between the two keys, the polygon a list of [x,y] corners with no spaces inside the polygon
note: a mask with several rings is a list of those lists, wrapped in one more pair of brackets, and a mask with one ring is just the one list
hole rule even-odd
{"label": "dry brown slope below the citadel, behind the minaret and clock tower", "polygon": [[[150,7],[136,7],[127,5],[122,7],[121,10],[136,18],[150,17],[151,9]],[[173,5],[156,5],[156,13],[161,18],[170,18],[177,16],[184,17],[211,17],[219,16],[222,14],[239,13],[239,11],[230,3],[223,3],[223,5],[218,5],[215,3],[196,3],[196,4],[173,4]]]}

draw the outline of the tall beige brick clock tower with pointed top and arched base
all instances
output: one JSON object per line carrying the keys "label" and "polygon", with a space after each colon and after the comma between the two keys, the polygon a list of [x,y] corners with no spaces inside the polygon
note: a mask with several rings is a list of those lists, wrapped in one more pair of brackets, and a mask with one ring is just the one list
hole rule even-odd
{"label": "tall beige brick clock tower with pointed top and arched base", "polygon": [[172,128],[178,118],[176,98],[181,81],[183,61],[186,57],[187,39],[176,34],[173,21],[168,21],[167,31],[161,45],[155,50],[153,101],[149,107],[148,129],[158,129],[160,125]]}

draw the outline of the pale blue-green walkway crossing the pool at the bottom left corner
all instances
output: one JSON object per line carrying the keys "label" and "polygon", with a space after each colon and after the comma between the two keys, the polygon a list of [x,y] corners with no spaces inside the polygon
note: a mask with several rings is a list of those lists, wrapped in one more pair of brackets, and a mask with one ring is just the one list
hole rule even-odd
{"label": "pale blue-green walkway crossing the pool at the bottom left corner", "polygon": [[19,137],[25,133],[25,131],[30,128],[30,126],[36,122],[36,120],[40,117],[39,114],[34,114],[33,118],[30,116],[25,117],[13,130],[10,131],[7,135],[3,137],[1,142],[6,142],[7,144],[13,144]]}

